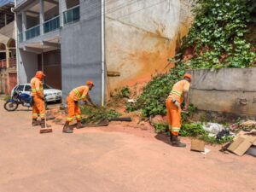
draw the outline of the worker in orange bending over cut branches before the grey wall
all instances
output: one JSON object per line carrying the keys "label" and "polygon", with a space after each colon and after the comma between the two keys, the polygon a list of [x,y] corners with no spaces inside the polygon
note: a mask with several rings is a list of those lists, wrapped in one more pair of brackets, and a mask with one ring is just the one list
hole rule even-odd
{"label": "worker in orange bending over cut branches before the grey wall", "polygon": [[77,128],[82,128],[81,124],[81,111],[79,108],[79,100],[88,101],[92,106],[96,106],[90,99],[89,90],[94,87],[94,84],[91,81],[88,81],[86,85],[79,86],[72,91],[67,96],[67,119],[63,127],[63,132],[73,133],[72,128],[70,127],[70,122],[73,119],[77,119]]}

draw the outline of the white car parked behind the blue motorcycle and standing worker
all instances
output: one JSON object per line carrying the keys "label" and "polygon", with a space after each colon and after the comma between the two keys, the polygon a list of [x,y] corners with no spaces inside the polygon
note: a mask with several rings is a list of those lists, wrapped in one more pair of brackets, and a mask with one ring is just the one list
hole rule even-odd
{"label": "white car parked behind the blue motorcycle and standing worker", "polygon": [[[53,89],[48,84],[44,84],[43,86],[45,102],[61,102],[61,90]],[[17,84],[15,88],[11,91],[11,96],[14,95],[15,90],[18,90],[21,93],[31,95],[30,84]]]}

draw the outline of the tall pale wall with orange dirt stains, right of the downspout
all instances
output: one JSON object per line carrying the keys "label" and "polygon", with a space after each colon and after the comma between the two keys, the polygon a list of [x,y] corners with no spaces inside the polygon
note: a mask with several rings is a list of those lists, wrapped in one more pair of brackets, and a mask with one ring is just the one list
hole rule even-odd
{"label": "tall pale wall with orange dirt stains, right of the downspout", "polygon": [[170,69],[167,58],[191,23],[189,0],[115,0],[106,13],[107,69],[120,73],[108,77],[108,92]]}

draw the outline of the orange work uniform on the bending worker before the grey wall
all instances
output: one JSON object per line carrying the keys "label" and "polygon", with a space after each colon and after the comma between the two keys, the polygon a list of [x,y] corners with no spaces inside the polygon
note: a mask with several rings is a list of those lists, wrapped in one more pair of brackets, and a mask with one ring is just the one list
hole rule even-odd
{"label": "orange work uniform on the bending worker before the grey wall", "polygon": [[77,121],[81,120],[81,110],[79,108],[79,100],[86,100],[89,96],[89,86],[79,86],[72,91],[67,96],[67,122],[71,122],[73,119]]}

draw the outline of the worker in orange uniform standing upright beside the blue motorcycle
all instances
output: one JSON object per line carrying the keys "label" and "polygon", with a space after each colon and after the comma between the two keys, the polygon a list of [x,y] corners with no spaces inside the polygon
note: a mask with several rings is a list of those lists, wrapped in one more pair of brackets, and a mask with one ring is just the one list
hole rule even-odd
{"label": "worker in orange uniform standing upright beside the blue motorcycle", "polygon": [[[45,128],[45,106],[44,106],[44,88],[43,82],[45,75],[42,71],[38,71],[34,78],[31,79],[32,88],[32,126],[41,125]],[[38,121],[40,117],[41,121]]]}

